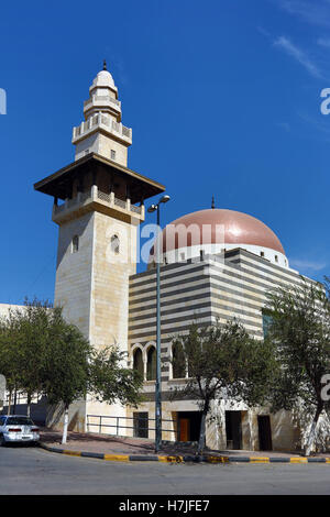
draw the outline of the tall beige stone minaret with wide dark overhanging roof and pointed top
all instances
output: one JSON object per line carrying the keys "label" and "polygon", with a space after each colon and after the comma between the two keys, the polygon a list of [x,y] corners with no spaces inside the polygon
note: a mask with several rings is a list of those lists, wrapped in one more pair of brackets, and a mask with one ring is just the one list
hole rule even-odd
{"label": "tall beige stone minaret with wide dark overhanging roof and pointed top", "polygon": [[[74,128],[75,162],[34,188],[54,197],[59,227],[55,305],[94,346],[117,343],[128,351],[129,277],[136,272],[143,202],[165,187],[127,167],[132,131],[121,123],[118,90],[106,68],[89,88],[85,121]],[[86,428],[88,414],[125,410],[82,402],[72,410],[76,429]]]}

